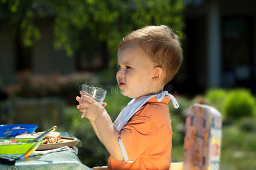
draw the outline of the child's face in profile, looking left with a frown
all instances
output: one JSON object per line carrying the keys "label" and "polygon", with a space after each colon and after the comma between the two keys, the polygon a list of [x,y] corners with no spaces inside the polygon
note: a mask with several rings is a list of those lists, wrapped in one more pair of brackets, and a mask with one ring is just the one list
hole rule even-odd
{"label": "child's face in profile, looking left with a frown", "polygon": [[154,63],[137,47],[127,47],[117,53],[120,69],[116,80],[124,96],[137,98],[149,94]]}

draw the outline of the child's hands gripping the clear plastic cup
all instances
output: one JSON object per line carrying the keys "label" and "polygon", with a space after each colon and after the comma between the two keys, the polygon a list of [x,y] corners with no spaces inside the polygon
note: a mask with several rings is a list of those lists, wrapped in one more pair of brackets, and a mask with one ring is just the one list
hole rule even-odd
{"label": "child's hands gripping the clear plastic cup", "polygon": [[81,118],[86,117],[91,121],[95,121],[98,116],[106,111],[104,107],[106,107],[107,103],[100,105],[90,96],[82,95],[81,97],[75,97],[75,99],[79,102],[77,109],[82,112]]}

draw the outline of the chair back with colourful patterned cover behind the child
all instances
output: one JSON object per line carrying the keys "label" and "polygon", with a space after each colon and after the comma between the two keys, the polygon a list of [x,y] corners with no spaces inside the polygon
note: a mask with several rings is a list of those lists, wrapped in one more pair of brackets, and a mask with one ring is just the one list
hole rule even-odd
{"label": "chair back with colourful patterned cover behind the child", "polygon": [[220,112],[208,105],[192,105],[186,117],[183,169],[219,169],[220,146]]}

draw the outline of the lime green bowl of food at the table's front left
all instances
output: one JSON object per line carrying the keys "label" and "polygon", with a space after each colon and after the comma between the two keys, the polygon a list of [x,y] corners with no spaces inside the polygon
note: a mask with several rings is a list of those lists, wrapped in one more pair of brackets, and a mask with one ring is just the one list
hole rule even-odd
{"label": "lime green bowl of food at the table's front left", "polygon": [[32,138],[27,139],[1,139],[0,156],[12,159],[24,159],[32,154],[43,141],[31,142]]}

